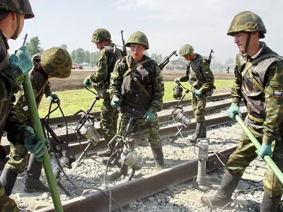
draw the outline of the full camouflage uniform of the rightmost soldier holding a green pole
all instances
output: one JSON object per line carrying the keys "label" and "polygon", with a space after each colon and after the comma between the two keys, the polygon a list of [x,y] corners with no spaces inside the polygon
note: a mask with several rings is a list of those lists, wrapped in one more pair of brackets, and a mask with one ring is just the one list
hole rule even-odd
{"label": "full camouflage uniform of the rightmost soldier holding a green pole", "polygon": [[[275,57],[277,54],[264,42],[260,42],[260,47],[261,52],[256,58],[258,62],[252,66],[251,62],[255,59],[242,53],[236,56],[235,81],[231,90],[232,105],[239,105],[243,97],[248,109],[246,125],[258,141],[275,144],[272,160],[283,170],[283,61]],[[267,54],[270,54],[270,57],[265,57]],[[247,66],[250,66],[250,71],[263,90],[255,85],[248,71],[244,71]],[[253,143],[243,133],[237,150],[229,158],[227,170],[243,174],[250,162],[258,156],[255,150]],[[265,172],[263,184],[265,192],[270,196],[283,193],[282,184],[270,167]]]}

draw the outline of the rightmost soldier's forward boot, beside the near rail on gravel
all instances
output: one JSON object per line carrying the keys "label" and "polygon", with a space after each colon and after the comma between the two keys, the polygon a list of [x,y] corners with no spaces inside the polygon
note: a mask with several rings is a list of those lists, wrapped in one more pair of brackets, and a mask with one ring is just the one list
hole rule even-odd
{"label": "rightmost soldier's forward boot, beside the near rail on gravel", "polygon": [[209,207],[211,204],[213,207],[217,208],[222,208],[226,204],[229,204],[231,201],[231,196],[235,191],[241,177],[242,175],[236,175],[229,170],[226,170],[216,194],[213,196],[202,196],[200,199],[202,204],[205,204]]}

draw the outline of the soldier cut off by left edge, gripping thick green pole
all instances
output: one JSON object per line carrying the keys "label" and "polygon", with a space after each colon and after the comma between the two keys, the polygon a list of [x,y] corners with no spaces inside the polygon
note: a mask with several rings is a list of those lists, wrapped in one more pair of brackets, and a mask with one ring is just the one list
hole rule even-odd
{"label": "soldier cut off by left edge, gripping thick green pole", "polygon": [[[33,18],[33,10],[28,0],[10,0],[0,4],[0,141],[7,131],[7,137],[13,137],[18,143],[24,143],[35,157],[42,160],[45,144],[37,141],[33,130],[21,123],[11,124],[8,115],[11,110],[13,94],[21,90],[23,76],[33,67],[30,53],[26,47],[18,49],[16,54],[8,55],[8,39],[16,40],[21,34],[25,19]],[[1,151],[4,153],[4,151]],[[6,155],[1,155],[4,158]],[[5,194],[0,182],[0,211],[19,211],[15,201]]]}

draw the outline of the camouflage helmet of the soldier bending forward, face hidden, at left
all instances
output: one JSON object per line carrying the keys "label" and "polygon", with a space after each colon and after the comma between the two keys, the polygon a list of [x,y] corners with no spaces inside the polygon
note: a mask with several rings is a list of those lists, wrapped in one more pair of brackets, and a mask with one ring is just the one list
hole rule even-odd
{"label": "camouflage helmet of the soldier bending forward, face hidden, at left", "polygon": [[67,78],[71,74],[71,56],[66,49],[52,47],[41,54],[41,64],[46,73],[57,78]]}

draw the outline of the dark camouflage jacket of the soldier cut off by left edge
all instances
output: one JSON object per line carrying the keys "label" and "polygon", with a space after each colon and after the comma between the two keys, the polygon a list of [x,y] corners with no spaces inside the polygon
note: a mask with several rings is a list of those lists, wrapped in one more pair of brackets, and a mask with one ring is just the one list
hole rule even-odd
{"label": "dark camouflage jacket of the soldier cut off by left edge", "polygon": [[6,37],[0,30],[0,140],[4,131],[6,131],[9,141],[23,143],[23,138],[32,133],[28,130],[28,126],[23,125],[23,123],[11,121],[11,112],[14,110],[12,105],[14,93],[21,90],[21,84],[18,82],[23,81],[23,74],[17,66],[8,65],[7,50]]}

